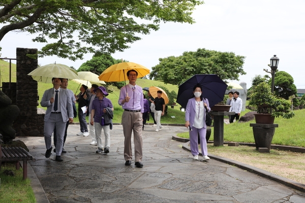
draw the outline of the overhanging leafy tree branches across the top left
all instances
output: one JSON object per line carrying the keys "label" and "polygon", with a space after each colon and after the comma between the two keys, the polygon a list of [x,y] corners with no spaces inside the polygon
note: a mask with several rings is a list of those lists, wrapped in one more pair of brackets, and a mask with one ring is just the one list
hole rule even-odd
{"label": "overhanging leafy tree branches across the top left", "polygon": [[0,41],[10,31],[29,32],[38,35],[34,42],[48,43],[40,57],[82,59],[88,52],[123,51],[141,39],[137,34],[158,30],[161,21],[194,23],[192,11],[201,4],[202,0],[2,0]]}

